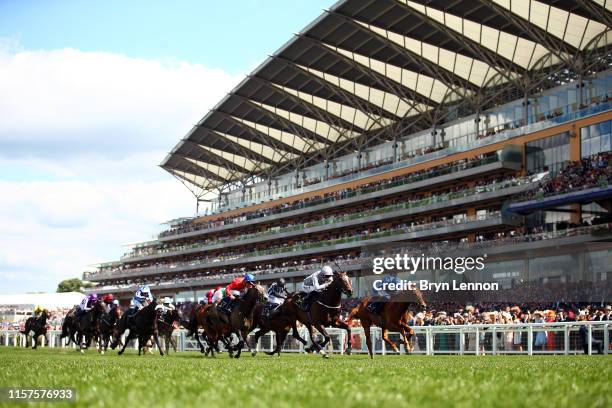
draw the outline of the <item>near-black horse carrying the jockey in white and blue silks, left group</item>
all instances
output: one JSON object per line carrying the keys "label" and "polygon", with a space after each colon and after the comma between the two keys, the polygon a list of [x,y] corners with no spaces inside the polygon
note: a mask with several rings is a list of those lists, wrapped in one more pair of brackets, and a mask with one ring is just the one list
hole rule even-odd
{"label": "near-black horse carrying the jockey in white and blue silks, left group", "polygon": [[121,335],[129,329],[130,332],[123,343],[123,347],[119,351],[119,355],[123,354],[130,340],[135,338],[138,338],[138,355],[140,355],[143,348],[147,345],[147,341],[153,336],[155,344],[159,349],[159,354],[163,356],[164,351],[159,344],[159,332],[157,329],[158,314],[157,302],[155,301],[149,303],[131,316],[128,316],[128,313],[124,313],[119,323],[115,326],[115,341],[111,344],[111,348],[115,349],[115,347],[117,347]]}

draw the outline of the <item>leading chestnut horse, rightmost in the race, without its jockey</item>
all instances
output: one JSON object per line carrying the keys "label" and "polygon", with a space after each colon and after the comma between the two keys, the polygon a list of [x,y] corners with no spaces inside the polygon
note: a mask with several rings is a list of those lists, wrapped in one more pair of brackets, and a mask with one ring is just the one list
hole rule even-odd
{"label": "leading chestnut horse, rightmost in the race, without its jockey", "polygon": [[410,328],[410,326],[408,326],[408,321],[412,317],[410,307],[416,303],[422,309],[424,309],[426,304],[425,300],[423,299],[423,294],[419,289],[415,289],[411,293],[413,293],[414,297],[407,297],[406,293],[391,297],[391,299],[384,303],[380,314],[376,314],[368,310],[368,305],[370,303],[383,300],[375,297],[364,298],[351,311],[348,319],[349,323],[353,319],[359,319],[361,321],[361,326],[363,327],[366,336],[366,345],[368,346],[370,358],[374,358],[370,334],[370,328],[372,326],[378,326],[382,329],[383,340],[390,345],[393,351],[396,353],[399,353],[399,349],[395,343],[389,339],[389,330],[399,332],[402,335],[406,352],[412,352],[410,339],[414,335],[414,331]]}

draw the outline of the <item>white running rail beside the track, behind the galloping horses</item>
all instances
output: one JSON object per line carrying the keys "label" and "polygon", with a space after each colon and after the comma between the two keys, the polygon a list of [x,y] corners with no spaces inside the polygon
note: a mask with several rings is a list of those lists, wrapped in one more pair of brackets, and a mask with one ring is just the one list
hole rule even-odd
{"label": "white running rail beside the track, behind the galloping horses", "polygon": [[[582,334],[581,326],[584,326]],[[596,354],[601,348],[604,354],[612,353],[610,332],[612,321],[601,322],[561,322],[561,323],[529,323],[529,324],[478,324],[460,326],[416,326],[415,336],[411,341],[413,354]],[[343,354],[347,343],[344,330],[330,328],[327,330],[331,342],[329,352]],[[60,331],[51,330],[46,338],[39,339],[39,346],[65,348],[65,340],[60,341]],[[193,338],[186,337],[185,330],[175,330],[173,336],[179,351],[197,351],[199,347]],[[300,336],[308,339],[304,327],[300,328]],[[398,333],[390,333],[389,337],[405,353],[403,342]],[[322,340],[321,336],[317,336]],[[379,328],[371,329],[372,344],[376,354],[393,354],[391,347],[382,339]],[[309,342],[310,343],[310,342]],[[353,353],[367,353],[365,334],[362,328],[351,330]],[[6,347],[25,347],[26,337],[16,330],[0,330],[0,345]],[[272,351],[276,339],[273,333],[268,333],[260,339],[258,351]],[[31,343],[30,343],[31,345]],[[71,345],[70,347],[74,347]],[[94,348],[95,349],[95,348]],[[303,352],[300,342],[287,336],[283,352]]]}

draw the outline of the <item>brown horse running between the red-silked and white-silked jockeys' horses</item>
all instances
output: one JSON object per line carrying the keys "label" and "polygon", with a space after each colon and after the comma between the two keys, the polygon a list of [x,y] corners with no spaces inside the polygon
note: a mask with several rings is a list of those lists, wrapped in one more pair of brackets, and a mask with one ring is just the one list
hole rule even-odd
{"label": "brown horse running between the red-silked and white-silked jockeys' horses", "polygon": [[[291,297],[293,294],[289,294],[288,297]],[[264,316],[264,310],[266,305],[258,303],[253,308],[253,327],[251,330],[254,331],[256,329],[255,335],[251,340],[251,354],[253,357],[257,355],[257,342],[259,338],[268,333],[269,331],[273,331],[276,335],[276,348],[274,351],[266,351],[265,353],[269,356],[273,356],[274,354],[278,354],[280,357],[280,351],[282,348],[285,339],[287,338],[287,334],[289,333],[289,329],[293,329],[292,336],[294,339],[300,341],[303,345],[306,345],[307,342],[304,340],[298,333],[296,321],[289,319],[283,313],[273,313],[270,316]],[[280,306],[279,306],[280,308]],[[279,310],[281,312],[281,310]]]}

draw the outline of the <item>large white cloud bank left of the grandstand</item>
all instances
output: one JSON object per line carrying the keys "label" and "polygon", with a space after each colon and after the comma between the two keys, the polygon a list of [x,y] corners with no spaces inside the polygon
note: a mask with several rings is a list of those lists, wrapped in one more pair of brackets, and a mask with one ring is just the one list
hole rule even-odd
{"label": "large white cloud bank left of the grandstand", "polygon": [[195,200],[157,164],[239,79],[179,61],[0,47],[0,292],[52,291],[191,215]]}

